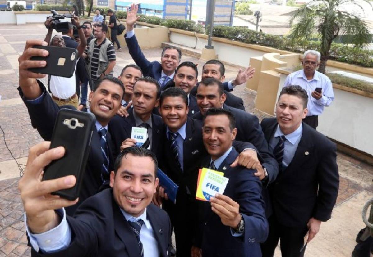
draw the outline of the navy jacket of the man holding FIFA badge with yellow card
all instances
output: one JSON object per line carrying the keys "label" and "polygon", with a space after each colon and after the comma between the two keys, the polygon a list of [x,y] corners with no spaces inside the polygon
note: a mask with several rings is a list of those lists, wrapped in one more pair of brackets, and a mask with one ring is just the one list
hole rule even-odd
{"label": "navy jacket of the man holding FIFA badge with yellow card", "polygon": [[[221,219],[211,210],[210,202],[200,202],[200,222],[196,245],[202,248],[203,256],[255,256],[261,257],[260,242],[268,235],[268,222],[261,198],[261,182],[254,176],[254,170],[242,166],[231,168],[238,156],[233,148],[217,170],[229,178],[224,195],[239,204],[239,212],[245,222],[240,237],[233,237],[231,228],[223,225]],[[208,156],[202,167],[209,167]]]}

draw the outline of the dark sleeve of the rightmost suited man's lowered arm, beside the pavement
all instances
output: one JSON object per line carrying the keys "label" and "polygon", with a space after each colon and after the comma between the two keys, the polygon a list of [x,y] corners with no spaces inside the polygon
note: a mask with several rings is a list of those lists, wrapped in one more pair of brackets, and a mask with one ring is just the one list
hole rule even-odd
{"label": "dark sleeve of the rightmost suited man's lowered arm, beside the pavement", "polygon": [[[329,141],[329,139],[324,139]],[[336,155],[336,145],[332,142],[318,143],[320,145],[320,163],[317,166],[317,178],[319,180],[319,192],[314,208],[313,217],[327,221],[330,219],[332,209],[338,195],[339,175]]]}

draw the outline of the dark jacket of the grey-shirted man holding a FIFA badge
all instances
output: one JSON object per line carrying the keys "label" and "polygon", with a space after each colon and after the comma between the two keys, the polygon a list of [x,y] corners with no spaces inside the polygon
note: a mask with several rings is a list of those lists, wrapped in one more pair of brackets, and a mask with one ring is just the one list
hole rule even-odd
{"label": "dark jacket of the grey-shirted man holding a FIFA badge", "polygon": [[[136,127],[135,117],[133,108],[128,111],[128,117],[120,117],[115,115],[109,122],[109,131],[112,136],[113,155],[116,156],[120,153],[120,145],[128,138],[131,138],[132,127]],[[157,152],[157,148],[160,145],[160,133],[163,127],[162,118],[158,115],[151,115],[152,124],[152,140],[151,140],[151,151]]]}

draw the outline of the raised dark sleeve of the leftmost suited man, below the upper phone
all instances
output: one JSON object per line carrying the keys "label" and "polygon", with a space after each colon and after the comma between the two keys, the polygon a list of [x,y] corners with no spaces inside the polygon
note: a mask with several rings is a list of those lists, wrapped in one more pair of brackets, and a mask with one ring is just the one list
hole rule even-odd
{"label": "raised dark sleeve of the leftmost suited man, below the upper phone", "polygon": [[33,104],[26,101],[21,87],[18,87],[18,91],[28,110],[32,127],[38,130],[40,136],[43,137],[44,140],[50,141],[53,133],[54,123],[60,107],[53,102],[43,83],[41,83],[39,80],[37,80],[37,82],[43,91],[43,99],[38,104]]}

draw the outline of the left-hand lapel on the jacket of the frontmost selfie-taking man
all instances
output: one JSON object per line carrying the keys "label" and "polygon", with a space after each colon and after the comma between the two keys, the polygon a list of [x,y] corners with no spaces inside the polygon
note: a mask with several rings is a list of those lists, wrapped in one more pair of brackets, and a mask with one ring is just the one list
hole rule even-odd
{"label": "left-hand lapel on the jacket of the frontmost selfie-taking man", "polygon": [[131,227],[129,226],[123,213],[120,211],[119,206],[115,202],[114,198],[112,198],[112,201],[113,201],[112,204],[113,204],[115,232],[117,233],[118,237],[123,242],[123,244],[126,246],[126,250],[128,251],[128,256],[139,257],[140,248],[136,247],[138,245],[138,242],[135,237],[135,234],[132,231]]}

